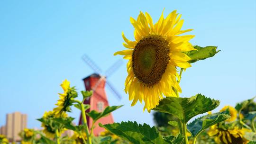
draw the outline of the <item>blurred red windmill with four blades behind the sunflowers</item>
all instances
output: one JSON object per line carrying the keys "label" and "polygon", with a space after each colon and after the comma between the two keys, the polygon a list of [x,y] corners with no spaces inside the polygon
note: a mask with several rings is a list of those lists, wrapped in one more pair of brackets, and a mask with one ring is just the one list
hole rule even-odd
{"label": "blurred red windmill with four blades behind the sunflowers", "polygon": [[[113,94],[116,96],[116,98],[121,99],[121,96],[117,92],[117,90],[114,89],[112,84],[110,84],[110,81],[106,81],[106,77],[110,76],[119,66],[122,64],[122,61],[119,60],[116,63],[114,63],[106,72],[105,76],[101,75],[102,72],[101,69],[87,56],[83,55],[82,59],[85,63],[87,63],[91,69],[95,72],[91,74],[90,76],[83,79],[85,89],[86,90],[93,90],[93,94],[89,99],[86,99],[84,101],[84,104],[89,104],[91,108],[86,110],[86,113],[91,110],[96,111],[103,111],[107,106],[109,106],[108,98],[105,91],[105,85],[110,88],[110,90],[113,92]],[[88,116],[86,116],[87,125],[89,129],[91,129],[92,125],[92,119]],[[102,124],[109,124],[114,123],[114,119],[112,117],[112,114],[110,114],[107,117],[100,118],[95,124],[95,128],[93,130],[94,135],[99,135],[101,131],[104,131],[105,129],[100,127],[98,123]],[[79,119],[79,125],[82,124],[82,114],[80,115]]]}

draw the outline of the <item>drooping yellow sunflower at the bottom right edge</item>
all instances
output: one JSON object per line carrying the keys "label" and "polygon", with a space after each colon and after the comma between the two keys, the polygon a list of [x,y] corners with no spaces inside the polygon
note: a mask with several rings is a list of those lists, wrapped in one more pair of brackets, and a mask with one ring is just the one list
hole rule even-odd
{"label": "drooping yellow sunflower at the bottom right edge", "polygon": [[247,128],[239,129],[238,126],[225,130],[219,128],[217,125],[213,125],[207,133],[210,136],[215,136],[214,141],[217,144],[221,144],[221,142],[224,144],[247,144],[249,141],[244,135],[250,131]]}

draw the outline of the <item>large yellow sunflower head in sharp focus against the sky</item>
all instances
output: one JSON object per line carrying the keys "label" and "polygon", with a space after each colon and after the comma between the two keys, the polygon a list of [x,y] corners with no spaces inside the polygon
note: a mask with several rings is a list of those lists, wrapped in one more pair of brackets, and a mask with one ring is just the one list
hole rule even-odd
{"label": "large yellow sunflower head in sharp focus against the sky", "polygon": [[124,55],[124,59],[129,60],[125,92],[129,100],[133,99],[131,106],[138,100],[144,101],[144,110],[150,112],[163,96],[177,97],[175,91],[182,92],[176,81],[176,67],[191,67],[187,62],[190,58],[183,52],[195,49],[189,43],[193,35],[180,36],[192,30],[181,30],[184,20],[180,18],[176,10],[166,18],[163,11],[155,24],[147,12],[140,12],[137,20],[130,18],[135,41],[128,40],[122,33],[123,45],[128,49],[114,55]]}

